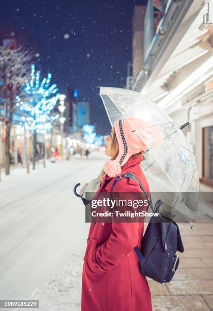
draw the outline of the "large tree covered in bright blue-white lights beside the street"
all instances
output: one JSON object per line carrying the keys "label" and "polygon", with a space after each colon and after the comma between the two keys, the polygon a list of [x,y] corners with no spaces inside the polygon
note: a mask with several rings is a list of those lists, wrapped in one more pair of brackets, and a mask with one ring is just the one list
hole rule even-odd
{"label": "large tree covered in bright blue-white lights beside the street", "polygon": [[36,159],[36,137],[37,131],[46,133],[52,127],[59,115],[51,115],[51,112],[59,98],[56,84],[50,85],[51,73],[41,80],[40,71],[35,70],[35,65],[31,65],[31,80],[26,81],[23,87],[23,97],[17,98],[17,106],[22,112],[22,123],[27,123],[33,131],[33,169],[35,169]]}

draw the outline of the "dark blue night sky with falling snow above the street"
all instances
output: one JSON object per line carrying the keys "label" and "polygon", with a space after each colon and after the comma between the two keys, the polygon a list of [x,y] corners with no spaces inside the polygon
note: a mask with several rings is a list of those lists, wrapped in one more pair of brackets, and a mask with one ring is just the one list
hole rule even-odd
{"label": "dark blue night sky with falling snow above the street", "polygon": [[[90,121],[99,134],[110,130],[98,86],[126,85],[131,60],[131,22],[135,5],[146,1],[1,1],[0,40],[15,38],[31,49],[42,77],[67,95],[78,89],[90,103]],[[37,55],[37,56],[36,56]]]}

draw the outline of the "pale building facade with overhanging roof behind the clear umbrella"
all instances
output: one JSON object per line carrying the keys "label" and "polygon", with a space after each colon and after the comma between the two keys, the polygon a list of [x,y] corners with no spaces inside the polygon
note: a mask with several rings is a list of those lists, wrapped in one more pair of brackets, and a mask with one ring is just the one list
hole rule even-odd
{"label": "pale building facade with overhanging roof behind the clear umbrella", "polygon": [[190,122],[183,132],[193,145],[200,181],[213,186],[213,2],[159,3],[157,26],[155,2],[148,1],[141,14],[143,60],[132,89],[156,101],[178,125]]}

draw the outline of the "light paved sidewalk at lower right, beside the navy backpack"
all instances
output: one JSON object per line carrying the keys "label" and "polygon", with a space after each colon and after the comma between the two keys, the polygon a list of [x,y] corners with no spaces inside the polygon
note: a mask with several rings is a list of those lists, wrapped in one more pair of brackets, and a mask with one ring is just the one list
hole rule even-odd
{"label": "light paved sidewalk at lower right, beside the navy backpack", "polygon": [[170,283],[147,278],[153,310],[213,310],[213,224],[178,224],[185,247]]}

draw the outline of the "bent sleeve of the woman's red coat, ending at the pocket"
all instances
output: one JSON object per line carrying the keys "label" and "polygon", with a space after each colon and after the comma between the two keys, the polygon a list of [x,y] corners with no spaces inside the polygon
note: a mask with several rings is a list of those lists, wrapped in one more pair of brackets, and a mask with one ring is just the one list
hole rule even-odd
{"label": "bent sleeve of the woman's red coat, ending at the pocket", "polygon": [[[138,182],[123,179],[113,192],[142,192]],[[118,265],[138,244],[139,223],[112,222],[112,233],[105,243],[97,247],[97,239],[90,239],[88,266],[95,274],[103,274]]]}

